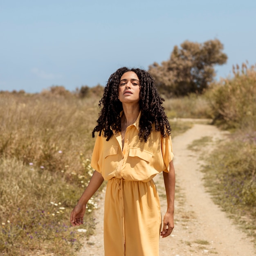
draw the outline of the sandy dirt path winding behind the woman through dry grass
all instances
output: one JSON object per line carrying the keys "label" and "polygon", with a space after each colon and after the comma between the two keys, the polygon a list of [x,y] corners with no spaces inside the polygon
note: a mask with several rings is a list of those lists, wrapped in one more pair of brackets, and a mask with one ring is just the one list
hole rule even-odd
{"label": "sandy dirt path winding behind the woman through dry grass", "polygon": [[[212,142],[192,151],[187,148],[194,140],[211,137]],[[173,139],[174,166],[177,177],[175,197],[175,228],[168,238],[160,238],[160,256],[256,256],[250,239],[214,204],[204,189],[200,157],[209,154],[225,136],[214,126],[195,124],[193,128]],[[162,216],[166,209],[162,174],[155,177],[160,195]],[[103,256],[103,198],[99,200],[95,236],[84,242],[79,256]]]}

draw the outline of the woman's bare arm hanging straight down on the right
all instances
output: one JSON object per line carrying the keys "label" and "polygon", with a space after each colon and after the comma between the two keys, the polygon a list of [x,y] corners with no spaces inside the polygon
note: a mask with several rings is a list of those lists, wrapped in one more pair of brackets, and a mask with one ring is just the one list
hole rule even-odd
{"label": "woman's bare arm hanging straight down on the right", "polygon": [[164,186],[167,198],[167,211],[164,215],[164,224],[161,232],[162,237],[169,236],[174,228],[174,194],[175,194],[175,170],[173,161],[170,162],[170,171],[163,172]]}

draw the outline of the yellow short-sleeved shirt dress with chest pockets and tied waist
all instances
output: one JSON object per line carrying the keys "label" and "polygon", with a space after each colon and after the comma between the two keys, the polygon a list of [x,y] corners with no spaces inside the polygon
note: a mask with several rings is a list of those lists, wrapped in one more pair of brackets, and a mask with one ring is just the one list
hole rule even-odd
{"label": "yellow short-sleeved shirt dress with chest pockets and tied waist", "polygon": [[139,117],[128,126],[122,150],[121,133],[106,141],[98,136],[91,166],[108,180],[104,210],[105,256],[158,256],[162,218],[153,177],[169,171],[171,137],[153,131],[138,137]]}

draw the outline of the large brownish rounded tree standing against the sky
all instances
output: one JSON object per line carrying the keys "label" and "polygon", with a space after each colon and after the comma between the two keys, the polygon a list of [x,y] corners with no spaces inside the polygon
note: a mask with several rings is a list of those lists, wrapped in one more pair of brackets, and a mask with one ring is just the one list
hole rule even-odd
{"label": "large brownish rounded tree standing against the sky", "polygon": [[160,93],[166,96],[184,96],[189,93],[202,93],[215,76],[214,65],[223,65],[227,55],[218,39],[202,44],[188,40],[173,48],[168,61],[161,65],[153,63],[149,72],[155,79]]}

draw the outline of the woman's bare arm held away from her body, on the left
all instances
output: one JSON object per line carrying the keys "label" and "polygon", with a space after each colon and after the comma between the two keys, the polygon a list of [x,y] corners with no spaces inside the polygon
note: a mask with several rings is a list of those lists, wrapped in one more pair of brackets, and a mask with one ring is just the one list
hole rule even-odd
{"label": "woman's bare arm held away from her body, on the left", "polygon": [[78,203],[74,207],[70,215],[70,223],[73,227],[83,224],[83,216],[86,210],[86,204],[94,193],[99,189],[103,183],[103,177],[101,173],[94,171],[91,180],[86,187],[85,191],[81,195]]}

